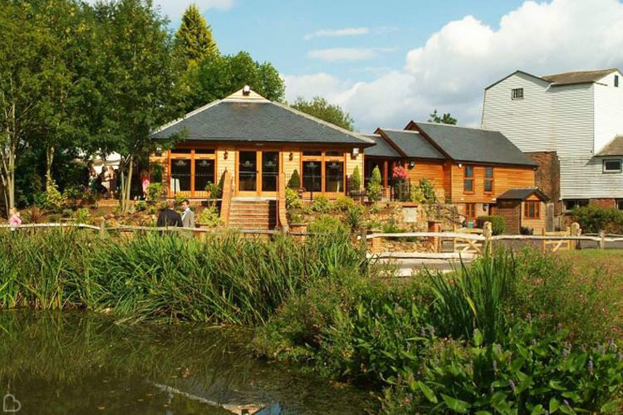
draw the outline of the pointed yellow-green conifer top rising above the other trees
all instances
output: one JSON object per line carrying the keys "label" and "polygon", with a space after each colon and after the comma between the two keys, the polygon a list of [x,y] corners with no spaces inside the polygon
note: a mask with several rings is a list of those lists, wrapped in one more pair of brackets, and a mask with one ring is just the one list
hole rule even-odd
{"label": "pointed yellow-green conifer top rising above the other trees", "polygon": [[188,6],[182,16],[179,29],[175,32],[175,46],[188,61],[198,61],[219,54],[219,48],[212,38],[212,29],[194,3]]}

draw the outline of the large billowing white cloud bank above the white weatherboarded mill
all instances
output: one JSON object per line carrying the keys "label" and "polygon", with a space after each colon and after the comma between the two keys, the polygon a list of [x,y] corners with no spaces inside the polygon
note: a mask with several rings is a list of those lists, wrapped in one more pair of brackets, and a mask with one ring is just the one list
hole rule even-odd
{"label": "large billowing white cloud bank above the white weatherboarded mill", "polygon": [[[324,58],[335,55],[325,52]],[[434,108],[462,125],[479,125],[483,89],[516,69],[543,75],[609,67],[623,69],[623,4],[553,0],[524,2],[500,19],[499,29],[474,16],[451,21],[409,50],[402,69],[373,82],[326,74],[285,79],[304,97],[323,91],[351,112],[361,131],[372,131],[426,120]]]}

